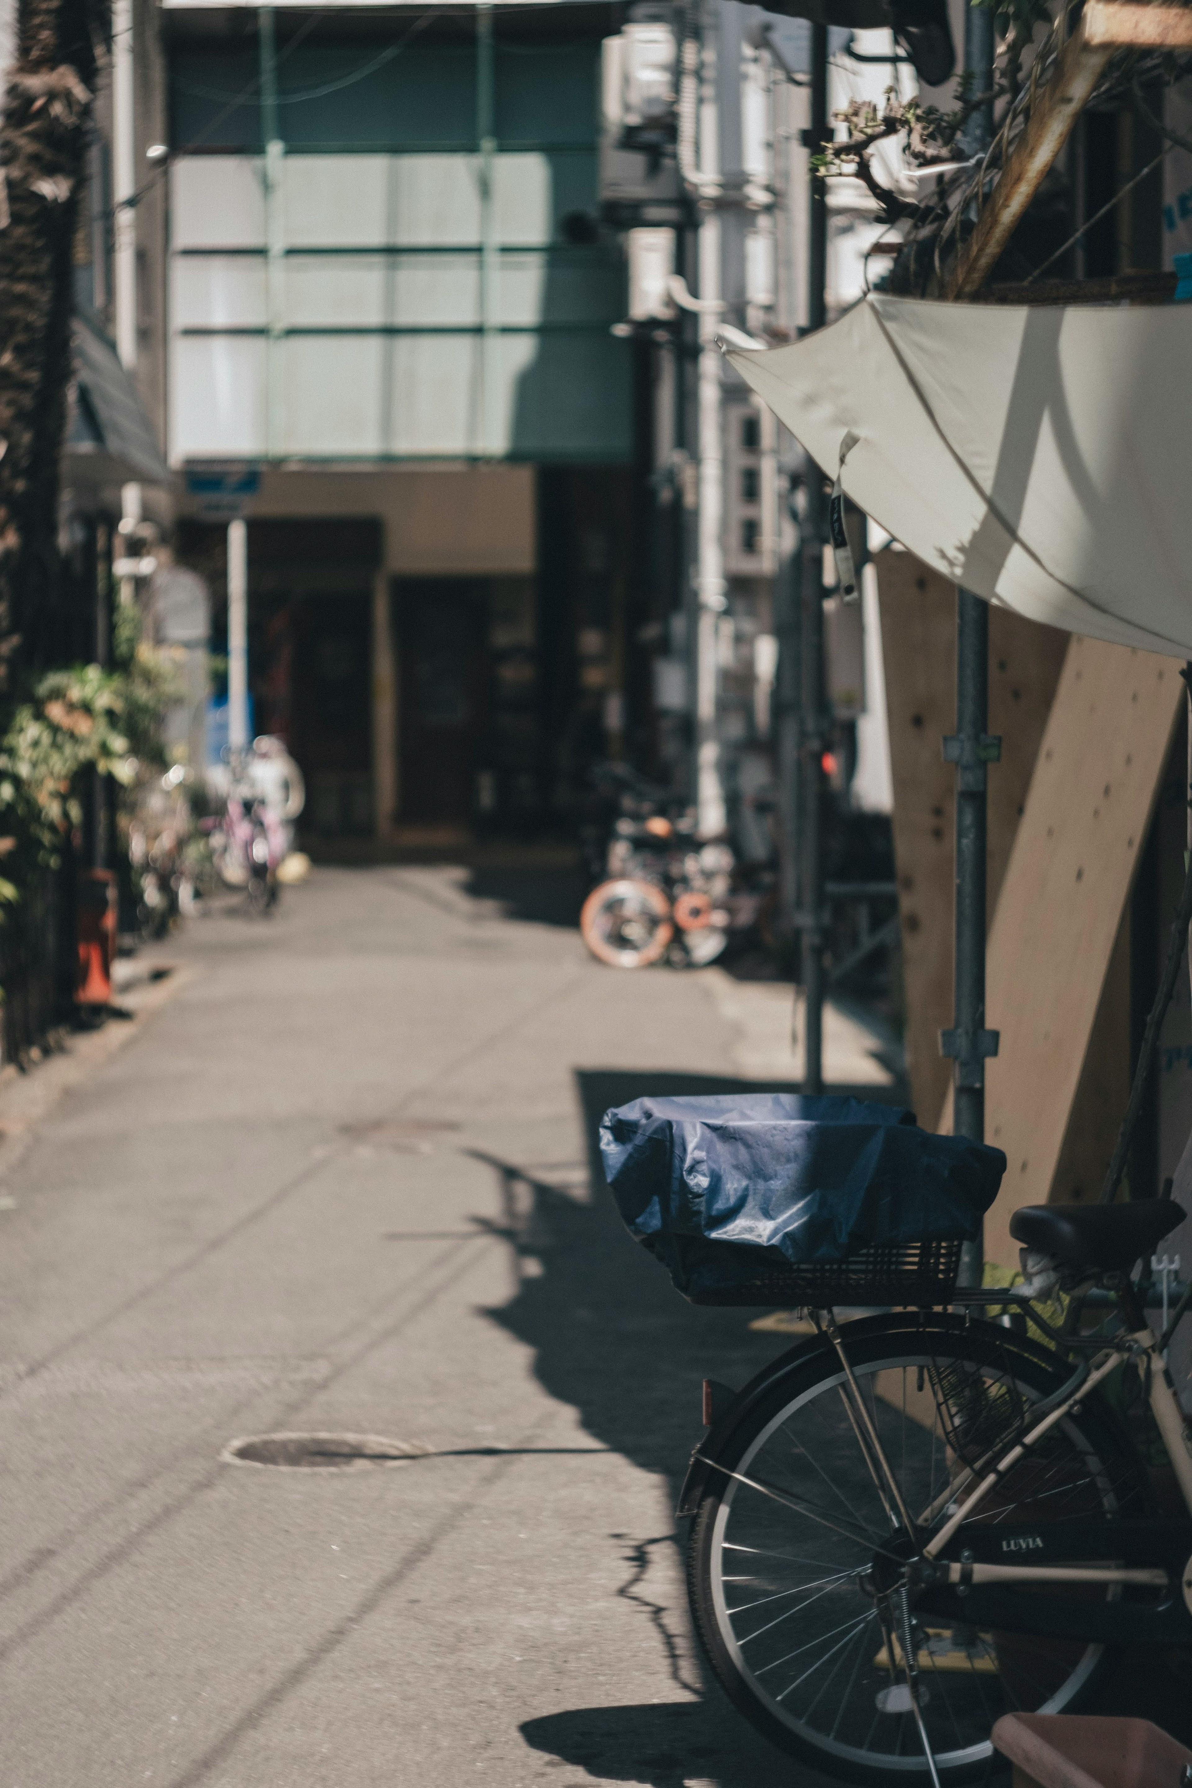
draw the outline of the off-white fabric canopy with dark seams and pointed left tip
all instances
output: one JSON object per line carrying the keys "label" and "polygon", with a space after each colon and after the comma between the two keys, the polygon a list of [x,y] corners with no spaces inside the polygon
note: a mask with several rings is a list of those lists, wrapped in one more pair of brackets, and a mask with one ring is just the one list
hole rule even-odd
{"label": "off-white fabric canopy with dark seams and pointed left tip", "polygon": [[729,359],[829,477],[844,449],[845,493],[947,578],[1192,656],[1192,306],[870,295]]}

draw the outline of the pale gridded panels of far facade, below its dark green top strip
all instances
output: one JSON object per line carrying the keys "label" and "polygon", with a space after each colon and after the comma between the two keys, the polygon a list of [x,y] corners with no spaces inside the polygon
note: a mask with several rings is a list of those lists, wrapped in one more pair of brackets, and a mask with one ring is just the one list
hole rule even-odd
{"label": "pale gridded panels of far facade, below its dark green top strip", "polygon": [[558,241],[558,220],[590,200],[583,157],[497,156],[493,320],[515,333],[488,340],[466,154],[288,156],[281,320],[311,333],[272,347],[264,333],[220,334],[266,324],[264,254],[229,252],[264,247],[261,173],[247,156],[172,172],[173,247],[193,250],[170,272],[175,461],[266,456],[266,352],[282,458],[625,458],[629,354],[606,329],[624,272]]}

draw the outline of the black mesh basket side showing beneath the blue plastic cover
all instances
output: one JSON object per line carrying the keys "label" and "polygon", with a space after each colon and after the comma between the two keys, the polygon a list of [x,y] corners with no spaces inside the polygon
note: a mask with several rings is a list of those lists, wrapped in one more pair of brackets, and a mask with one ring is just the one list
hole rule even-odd
{"label": "black mesh basket side showing beneath the blue plastic cover", "polygon": [[947,1303],[956,1286],[960,1248],[958,1241],[911,1241],[894,1248],[861,1248],[836,1262],[765,1262],[752,1275],[726,1286],[722,1262],[709,1259],[711,1244],[701,1262],[690,1262],[684,1295],[692,1303],[811,1309]]}

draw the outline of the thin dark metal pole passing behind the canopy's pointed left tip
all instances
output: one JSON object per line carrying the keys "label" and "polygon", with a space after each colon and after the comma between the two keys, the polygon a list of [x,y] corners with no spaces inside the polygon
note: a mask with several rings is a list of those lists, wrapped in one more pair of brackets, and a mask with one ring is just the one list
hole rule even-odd
{"label": "thin dark metal pole passing behind the canopy's pointed left tip", "polygon": [[[811,154],[829,138],[827,125],[827,27],[811,27]],[[810,175],[808,241],[808,333],[827,318],[827,190],[822,175]],[[822,781],[829,724],[824,697],[824,477],[808,460],[806,510],[802,519],[802,801],[801,801],[801,928],[804,994],[802,1091],[824,1091],[824,862]]]}

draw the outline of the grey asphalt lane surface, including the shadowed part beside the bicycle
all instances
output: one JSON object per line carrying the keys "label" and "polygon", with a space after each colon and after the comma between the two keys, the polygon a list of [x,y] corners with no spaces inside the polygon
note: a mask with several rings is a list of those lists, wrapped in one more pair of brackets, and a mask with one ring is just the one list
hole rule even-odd
{"label": "grey asphalt lane surface, including the shadowed part beside the bicycle", "polygon": [[[706,1690],[672,1541],[702,1375],[785,1337],[590,1185],[606,1105],[781,1078],[785,994],[572,917],[318,869],[159,946],[173,996],[0,1150],[0,1788],[808,1781]],[[418,1457],[222,1457],[273,1432]]]}

